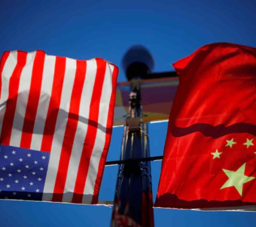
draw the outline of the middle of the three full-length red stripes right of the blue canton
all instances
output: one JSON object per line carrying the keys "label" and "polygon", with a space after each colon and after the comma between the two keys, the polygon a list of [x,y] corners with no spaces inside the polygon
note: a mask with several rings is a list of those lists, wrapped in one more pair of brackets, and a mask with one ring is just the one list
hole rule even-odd
{"label": "middle of the three full-length red stripes right of the blue canton", "polygon": [[73,203],[82,203],[85,181],[97,133],[97,127],[95,126],[95,122],[98,122],[99,118],[99,104],[102,95],[102,87],[107,63],[100,58],[96,59],[96,63],[97,72],[92,92],[92,100],[90,103],[88,128],[86,137],[84,139],[84,147],[78,167],[77,179],[72,198]]}

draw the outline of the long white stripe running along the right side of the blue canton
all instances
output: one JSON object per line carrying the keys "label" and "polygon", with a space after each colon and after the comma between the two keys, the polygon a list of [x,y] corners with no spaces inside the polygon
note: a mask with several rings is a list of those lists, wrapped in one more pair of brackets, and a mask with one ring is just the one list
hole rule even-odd
{"label": "long white stripe running along the right side of the blue canton", "polygon": [[61,102],[57,117],[57,122],[54,130],[54,137],[51,146],[51,154],[49,165],[44,184],[44,193],[42,200],[51,201],[52,193],[54,191],[55,180],[59,167],[59,159],[61,154],[64,133],[67,125],[67,118],[69,112],[70,99],[72,95],[72,88],[74,85],[74,78],[76,74],[76,60],[66,58],[66,69],[61,93]]}

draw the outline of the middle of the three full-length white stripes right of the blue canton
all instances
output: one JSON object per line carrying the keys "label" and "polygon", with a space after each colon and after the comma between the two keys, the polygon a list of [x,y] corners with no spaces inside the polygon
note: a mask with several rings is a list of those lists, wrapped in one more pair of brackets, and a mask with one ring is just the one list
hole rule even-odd
{"label": "middle of the three full-length white stripes right of the blue canton", "polygon": [[65,184],[64,194],[62,201],[71,202],[74,192],[74,187],[77,179],[77,172],[79,162],[84,146],[84,139],[87,133],[89,109],[92,98],[92,92],[94,87],[95,76],[97,72],[96,60],[88,60],[86,67],[86,76],[84,81],[84,87],[82,90],[82,97],[79,107],[79,122],[77,125],[77,131],[72,147],[72,153],[69,161],[69,168],[67,172],[67,180]]}

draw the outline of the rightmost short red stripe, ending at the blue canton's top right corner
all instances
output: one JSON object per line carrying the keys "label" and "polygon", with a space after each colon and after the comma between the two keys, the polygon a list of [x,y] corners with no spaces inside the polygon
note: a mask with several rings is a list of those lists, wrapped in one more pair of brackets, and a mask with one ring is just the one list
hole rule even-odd
{"label": "rightmost short red stripe, ending at the blue canton's top right corner", "polygon": [[65,75],[66,58],[56,57],[54,78],[51,90],[51,99],[44,125],[44,134],[42,138],[41,151],[50,152],[53,141],[53,134],[57,122],[61,93]]}

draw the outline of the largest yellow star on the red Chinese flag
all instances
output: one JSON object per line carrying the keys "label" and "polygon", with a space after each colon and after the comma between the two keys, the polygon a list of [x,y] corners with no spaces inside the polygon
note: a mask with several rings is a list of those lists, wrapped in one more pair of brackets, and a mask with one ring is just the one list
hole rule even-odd
{"label": "largest yellow star on the red Chinese flag", "polygon": [[234,186],[240,196],[242,196],[243,185],[246,182],[251,181],[255,178],[254,176],[245,176],[245,163],[241,167],[239,167],[237,171],[231,171],[227,169],[222,170],[227,175],[228,180],[225,182],[225,184],[222,185],[220,189]]}

